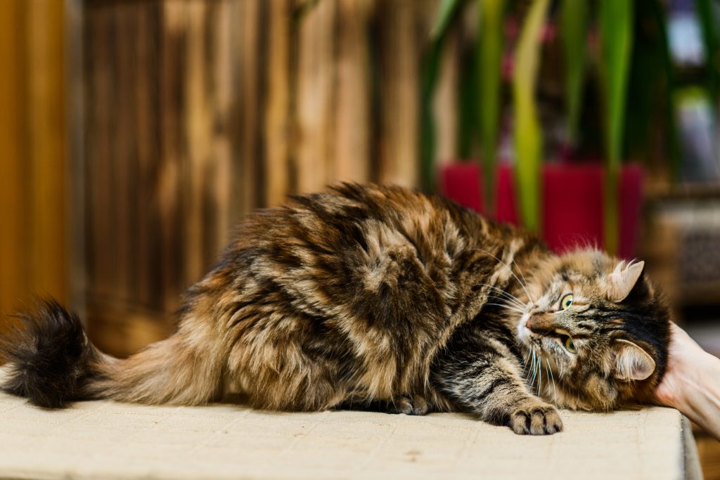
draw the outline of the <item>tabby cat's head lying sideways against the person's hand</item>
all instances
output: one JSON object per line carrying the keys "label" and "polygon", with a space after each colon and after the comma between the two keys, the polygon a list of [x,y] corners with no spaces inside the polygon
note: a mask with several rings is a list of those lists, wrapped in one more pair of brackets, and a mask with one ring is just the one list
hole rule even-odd
{"label": "tabby cat's head lying sideways against the person's hand", "polygon": [[531,300],[518,338],[537,364],[531,361],[535,391],[572,409],[650,399],[665,371],[670,309],[644,262],[578,250],[549,261],[527,283]]}

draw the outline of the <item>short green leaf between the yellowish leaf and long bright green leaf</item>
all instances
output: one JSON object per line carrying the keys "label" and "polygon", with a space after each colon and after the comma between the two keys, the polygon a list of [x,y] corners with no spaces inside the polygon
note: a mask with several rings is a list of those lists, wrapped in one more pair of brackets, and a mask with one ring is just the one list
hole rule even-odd
{"label": "short green leaf between the yellowish leaf and long bright green leaf", "polygon": [[589,13],[587,0],[562,1],[560,28],[565,65],[567,142],[573,148],[577,146],[582,86],[585,83]]}

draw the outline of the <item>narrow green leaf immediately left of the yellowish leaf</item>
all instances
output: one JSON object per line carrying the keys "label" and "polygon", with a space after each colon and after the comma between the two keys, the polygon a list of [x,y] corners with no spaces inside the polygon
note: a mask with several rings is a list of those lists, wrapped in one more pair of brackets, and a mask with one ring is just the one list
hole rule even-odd
{"label": "narrow green leaf immediately left of the yellowish leaf", "polygon": [[480,143],[485,212],[495,214],[495,163],[500,130],[500,68],[503,61],[503,11],[505,0],[480,3]]}

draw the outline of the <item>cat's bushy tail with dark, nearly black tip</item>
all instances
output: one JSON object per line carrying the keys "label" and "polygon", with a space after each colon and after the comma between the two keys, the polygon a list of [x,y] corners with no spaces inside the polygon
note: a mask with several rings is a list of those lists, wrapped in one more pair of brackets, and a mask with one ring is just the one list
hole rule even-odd
{"label": "cat's bushy tail with dark, nearly black tip", "polygon": [[121,360],[92,345],[77,314],[55,300],[15,318],[0,338],[7,361],[0,389],[39,407],[89,399],[196,405],[222,390],[220,356],[184,342],[180,332]]}

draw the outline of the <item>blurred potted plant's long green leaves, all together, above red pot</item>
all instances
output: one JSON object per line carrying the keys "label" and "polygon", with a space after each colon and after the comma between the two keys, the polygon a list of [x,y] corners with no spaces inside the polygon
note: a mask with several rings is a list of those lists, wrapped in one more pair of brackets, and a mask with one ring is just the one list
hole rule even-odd
{"label": "blurred potted plant's long green leaves, all together, above red pot", "polygon": [[[696,0],[698,12],[708,10],[709,0]],[[433,29],[433,45],[442,45],[454,18],[462,7],[470,1],[444,0],[436,28]],[[541,189],[540,171],[543,150],[543,130],[539,125],[537,106],[537,76],[541,58],[541,31],[545,27],[546,17],[551,11],[549,0],[513,1],[513,0],[477,0],[480,10],[478,34],[472,48],[476,60],[464,67],[461,73],[460,109],[460,155],[472,155],[472,140],[479,138],[482,153],[482,175],[485,182],[486,212],[492,215],[492,199],[495,198],[493,180],[497,163],[498,132],[502,84],[502,53],[505,37],[503,26],[505,17],[521,20],[521,33],[510,63],[513,65],[512,102],[513,102],[513,139],[516,155],[516,191],[523,224],[531,230],[541,225],[539,218]],[[705,5],[702,6],[701,4]],[[667,142],[668,156],[677,161],[675,145],[675,124],[672,116],[672,64],[667,45],[667,25],[665,24],[664,4],[662,0],[560,0],[559,8],[552,10],[557,14],[562,58],[564,60],[564,145],[570,152],[579,152],[585,142],[585,148],[591,145],[590,139],[600,137],[604,158],[606,159],[605,184],[605,232],[606,249],[615,253],[618,245],[618,178],[621,160],[626,158],[628,145],[640,156],[647,155],[652,140],[648,134],[649,124],[654,119],[665,119],[661,137]],[[706,31],[712,32],[710,13],[706,15]],[[707,20],[710,19],[710,20]],[[552,17],[551,17],[552,22]],[[645,35],[634,50],[635,38]],[[597,38],[598,42],[592,41]],[[589,41],[590,39],[590,41]],[[717,52],[719,43],[714,32],[706,34],[708,52]],[[595,44],[598,51],[595,52]],[[710,47],[713,47],[712,50]],[[432,123],[424,117],[431,117],[428,105],[432,99],[438,76],[438,57],[441,48],[433,48],[428,55],[426,65],[432,65],[432,76],[426,76],[423,84],[423,139],[434,138]],[[714,54],[716,55],[716,54]],[[713,58],[719,59],[720,56]],[[592,68],[590,68],[592,67]],[[594,73],[600,83],[600,122],[595,122],[595,109],[583,112],[585,85],[588,74]],[[716,73],[715,73],[716,75]],[[717,75],[708,81],[717,86]],[[714,83],[713,83],[714,82]],[[470,83],[468,87],[468,83]],[[626,100],[632,89],[634,105],[642,105],[628,112]],[[660,106],[653,104],[651,95],[665,101]],[[657,101],[655,102],[657,103]],[[479,104],[479,108],[477,105]],[[468,106],[471,107],[468,107]],[[477,113],[468,109],[476,109]],[[662,109],[662,111],[660,111]],[[626,122],[630,116],[632,121]],[[585,124],[587,123],[587,124]],[[631,138],[629,138],[631,137]],[[590,152],[588,157],[594,158]],[[423,145],[423,170],[428,172],[426,188],[432,185],[434,169],[434,144]],[[673,168],[675,170],[675,168]],[[487,207],[490,209],[487,209]]]}

